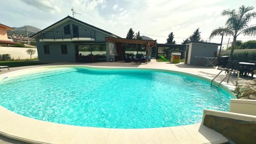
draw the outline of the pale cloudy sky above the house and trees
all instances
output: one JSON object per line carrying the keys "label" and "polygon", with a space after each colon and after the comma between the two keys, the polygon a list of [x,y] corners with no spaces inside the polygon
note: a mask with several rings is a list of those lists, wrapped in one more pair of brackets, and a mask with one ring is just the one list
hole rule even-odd
{"label": "pale cloudy sky above the house and trees", "polygon": [[[90,23],[121,37],[133,28],[135,33],[166,43],[173,32],[174,40],[180,44],[199,28],[201,37],[209,41],[214,28],[225,26],[227,17],[221,12],[237,9],[241,5],[256,7],[255,0],[158,0],[158,1],[118,1],[118,0],[12,0],[0,1],[0,23],[10,27],[31,25],[40,29],[50,26],[67,15],[72,16],[71,8],[77,13],[75,18]],[[256,9],[254,9],[256,11]],[[256,25],[256,18],[250,25]],[[228,42],[225,36],[223,43]],[[247,41],[256,36],[240,36]],[[230,37],[230,42],[232,41]],[[211,42],[220,43],[220,37]]]}

